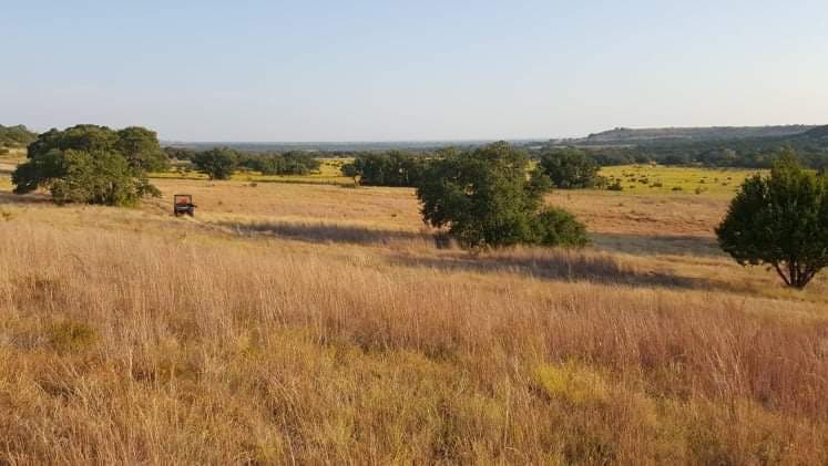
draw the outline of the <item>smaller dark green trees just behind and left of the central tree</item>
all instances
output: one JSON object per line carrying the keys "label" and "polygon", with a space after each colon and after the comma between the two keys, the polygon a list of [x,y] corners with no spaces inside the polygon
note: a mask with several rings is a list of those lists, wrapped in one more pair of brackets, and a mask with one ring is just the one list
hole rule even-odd
{"label": "smaller dark green trees just behind and left of the central tree", "polygon": [[415,187],[422,179],[429,155],[402,151],[356,154],[343,165],[343,174],[365,186]]}

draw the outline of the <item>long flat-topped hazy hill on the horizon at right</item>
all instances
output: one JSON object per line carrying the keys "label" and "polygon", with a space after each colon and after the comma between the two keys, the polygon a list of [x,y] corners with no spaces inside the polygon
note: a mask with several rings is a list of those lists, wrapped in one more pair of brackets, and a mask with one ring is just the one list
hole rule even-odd
{"label": "long flat-topped hazy hill on the horizon at right", "polygon": [[650,144],[678,142],[711,142],[727,139],[748,139],[756,137],[787,137],[804,134],[818,128],[811,125],[786,126],[711,126],[711,127],[665,127],[665,128],[625,128],[602,133],[572,141],[574,144]]}

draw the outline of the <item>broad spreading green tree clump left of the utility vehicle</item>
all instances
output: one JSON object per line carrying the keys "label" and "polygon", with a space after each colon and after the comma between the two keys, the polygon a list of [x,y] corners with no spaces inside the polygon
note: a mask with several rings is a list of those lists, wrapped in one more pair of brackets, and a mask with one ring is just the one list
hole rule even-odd
{"label": "broad spreading green tree clump left of the utility vehicle", "polygon": [[146,172],[167,165],[156,134],[137,126],[51,130],[29,144],[27,157],[12,174],[14,193],[43,187],[59,204],[134,205],[160,194]]}

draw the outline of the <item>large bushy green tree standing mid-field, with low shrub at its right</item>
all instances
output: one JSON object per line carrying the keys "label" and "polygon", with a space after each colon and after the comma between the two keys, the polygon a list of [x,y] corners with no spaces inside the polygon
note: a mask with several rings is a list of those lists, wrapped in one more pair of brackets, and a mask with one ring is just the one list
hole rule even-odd
{"label": "large bushy green tree standing mid-field, with low shrub at its right", "polygon": [[527,154],[504,142],[441,151],[417,188],[423,220],[471,248],[585,245],[574,217],[543,209],[549,178],[536,169],[528,175],[528,167]]}

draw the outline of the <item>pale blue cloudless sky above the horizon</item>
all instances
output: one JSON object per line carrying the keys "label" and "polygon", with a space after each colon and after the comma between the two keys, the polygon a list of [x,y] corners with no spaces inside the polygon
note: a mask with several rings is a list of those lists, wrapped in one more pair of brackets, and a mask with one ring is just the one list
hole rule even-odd
{"label": "pale blue cloudless sky above the horizon", "polygon": [[828,1],[0,0],[0,124],[450,141],[827,124]]}

